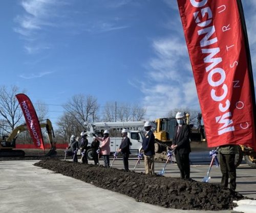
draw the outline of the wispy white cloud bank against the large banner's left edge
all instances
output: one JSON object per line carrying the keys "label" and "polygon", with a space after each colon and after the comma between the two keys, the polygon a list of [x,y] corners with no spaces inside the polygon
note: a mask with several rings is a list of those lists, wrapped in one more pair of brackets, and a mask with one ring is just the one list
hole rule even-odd
{"label": "wispy white cloud bank against the large banner's left edge", "polygon": [[149,119],[166,116],[174,108],[199,108],[185,41],[170,36],[154,40],[152,47],[155,57],[145,65],[147,78],[130,81],[144,94]]}

